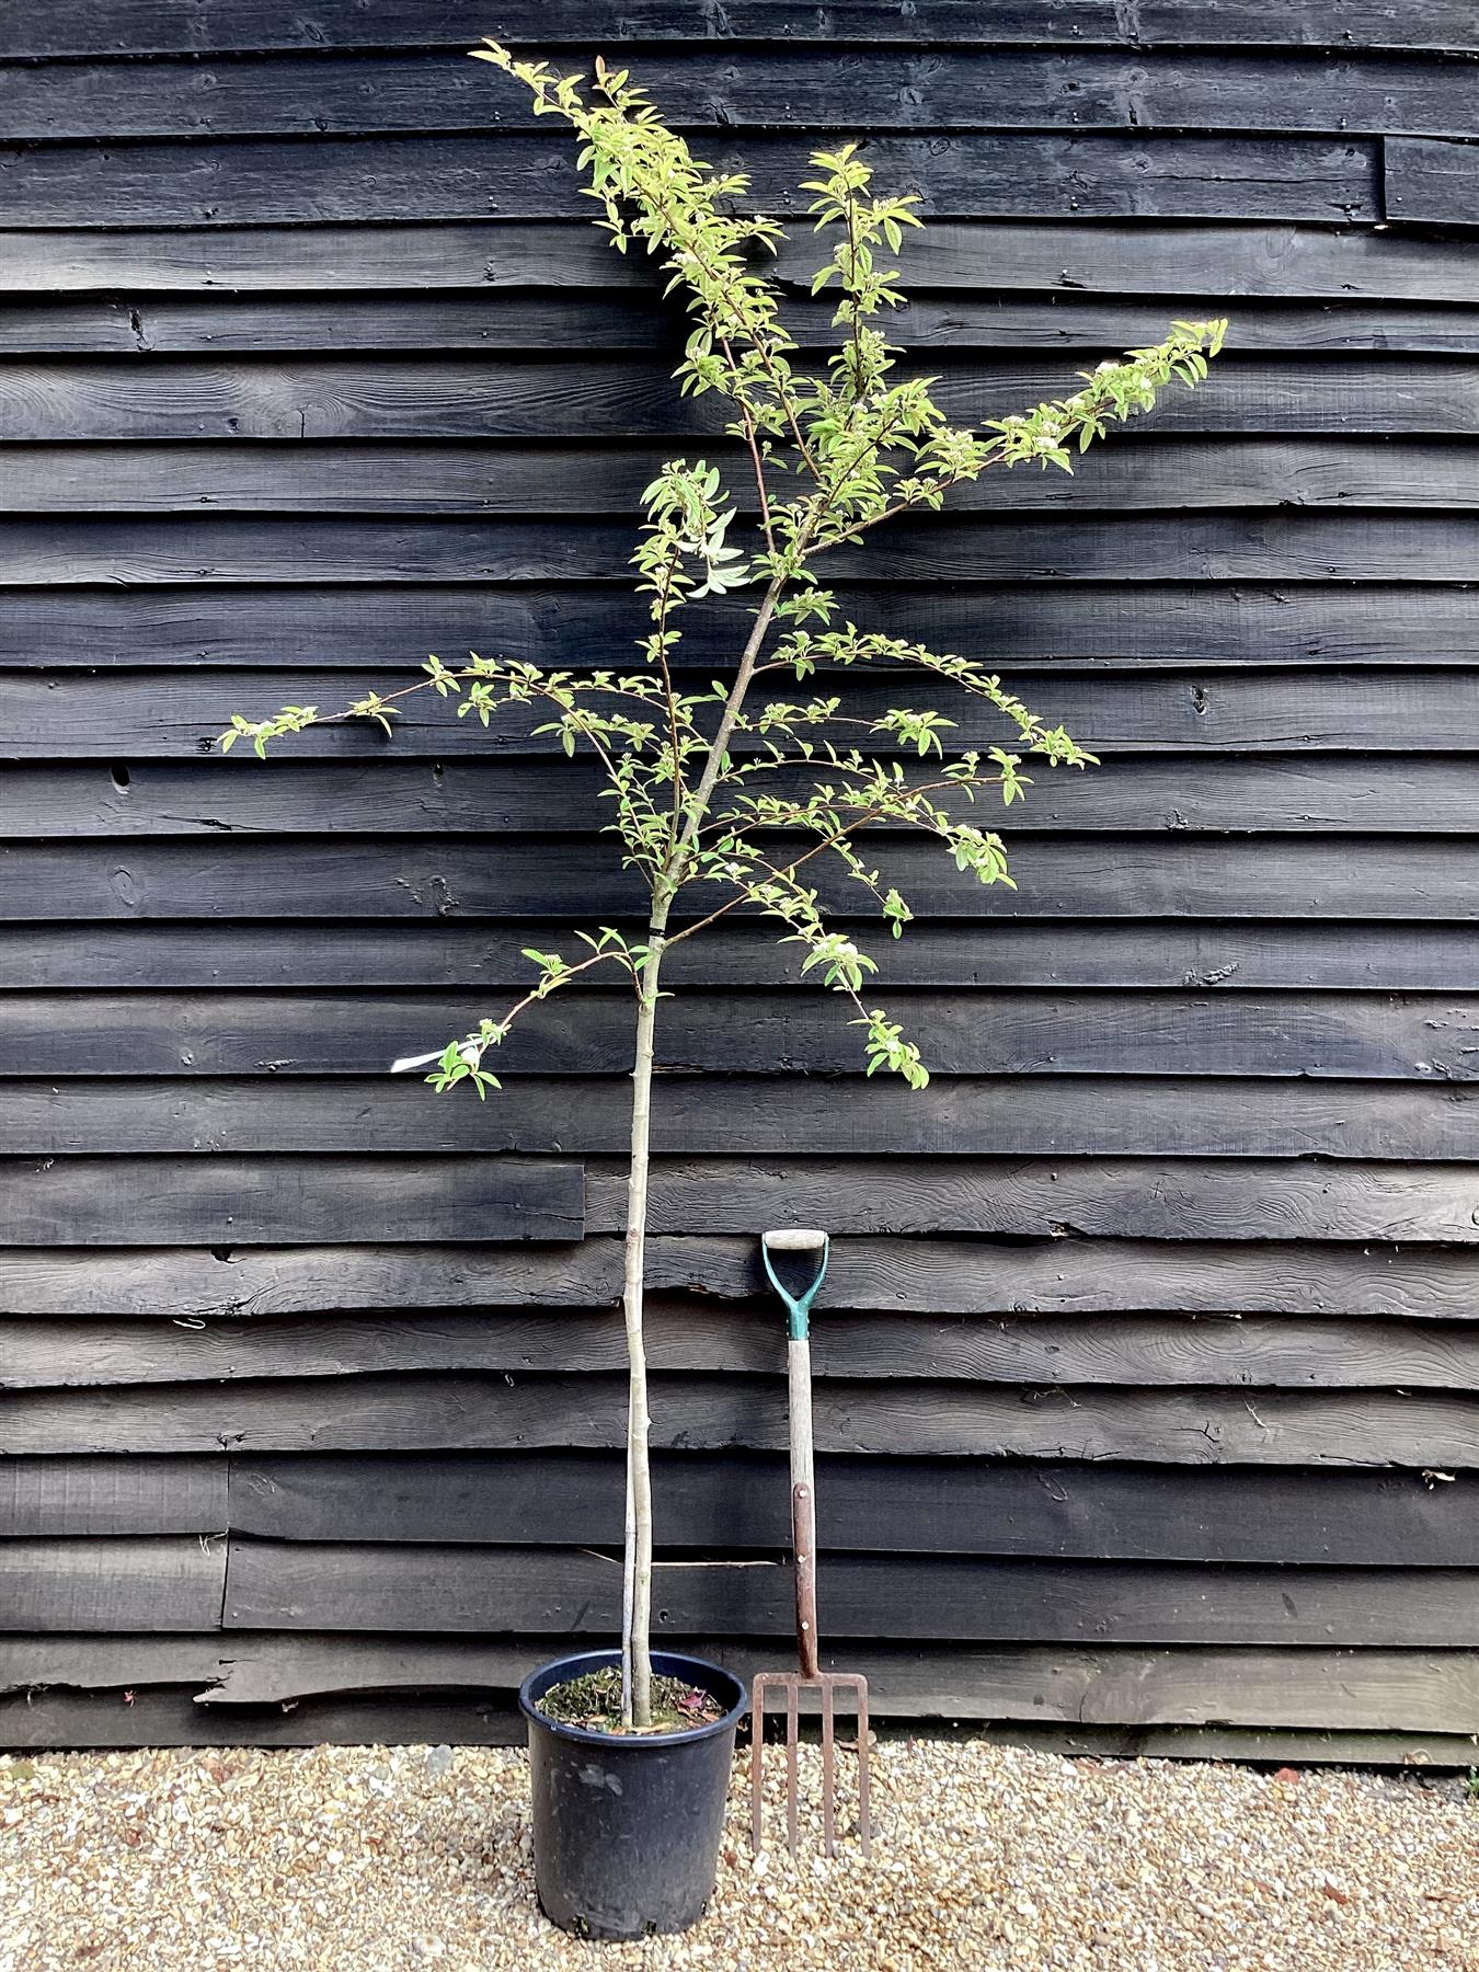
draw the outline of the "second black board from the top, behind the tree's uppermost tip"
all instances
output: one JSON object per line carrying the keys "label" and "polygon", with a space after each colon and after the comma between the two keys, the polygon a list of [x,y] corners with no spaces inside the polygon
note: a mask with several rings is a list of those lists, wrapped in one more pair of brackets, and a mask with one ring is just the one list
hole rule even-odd
{"label": "second black board from the top, behind the tree's uppermost tip", "polygon": [[[623,22],[623,35],[631,26]],[[1264,35],[1258,35],[1262,39]],[[826,47],[655,47],[633,55],[674,128],[807,126],[846,103],[868,130],[1242,130],[1475,136],[1463,61],[1221,47],[949,49],[933,59]],[[357,136],[538,130],[527,93],[463,49],[0,69],[0,140]]]}

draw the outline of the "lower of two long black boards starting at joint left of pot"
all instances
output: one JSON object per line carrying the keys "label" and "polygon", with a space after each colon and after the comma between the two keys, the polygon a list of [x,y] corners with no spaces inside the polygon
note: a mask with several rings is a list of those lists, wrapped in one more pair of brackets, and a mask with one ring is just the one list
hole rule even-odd
{"label": "lower of two long black boards starting at joint left of pot", "polygon": [[[830,1637],[1014,1643],[1467,1645],[1459,1572],[1205,1570],[834,1556],[818,1572]],[[621,1568],[532,1548],[339,1548],[235,1540],[225,1621],[239,1629],[442,1629],[588,1635],[619,1617]],[[440,1619],[440,1621],[438,1621]],[[791,1570],[704,1562],[653,1570],[653,1631],[771,1637],[795,1629]]]}

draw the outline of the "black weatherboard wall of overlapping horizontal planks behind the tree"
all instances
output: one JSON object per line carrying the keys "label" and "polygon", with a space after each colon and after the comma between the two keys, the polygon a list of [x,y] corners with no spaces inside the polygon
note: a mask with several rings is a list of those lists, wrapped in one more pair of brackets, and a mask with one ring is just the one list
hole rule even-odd
{"label": "black weatherboard wall of overlapping horizontal planks behind the tree", "polygon": [[785,1655],[753,1232],[818,1219],[822,1623],[881,1710],[1469,1759],[1465,0],[12,0],[0,1743],[499,1735],[615,1621],[623,1006],[548,1010],[487,1106],[381,1073],[627,909],[592,783],[432,710],[211,743],[639,631],[633,495],[708,402],[483,32],[625,37],[775,211],[866,136],[964,416],[1232,317],[1203,392],[844,584],[1104,767],[1016,810],[1016,895],[899,850],[927,1094],[763,943],[684,958],[661,1629]]}

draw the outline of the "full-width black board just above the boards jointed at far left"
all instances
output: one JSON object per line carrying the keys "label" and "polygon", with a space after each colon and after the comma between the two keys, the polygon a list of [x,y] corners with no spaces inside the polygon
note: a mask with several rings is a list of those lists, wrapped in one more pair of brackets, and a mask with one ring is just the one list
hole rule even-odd
{"label": "full-width black board just above the boards jointed at far left", "polygon": [[[509,1451],[623,1444],[619,1376],[337,1376],[0,1396],[18,1453]],[[781,1378],[653,1380],[659,1449],[777,1451]],[[1100,1390],[826,1382],[816,1449],[929,1457],[1130,1459],[1150,1465],[1479,1465],[1471,1396],[1264,1390]],[[1469,1605],[1471,1607],[1471,1605]],[[381,1625],[377,1625],[381,1627]],[[1455,1639],[1469,1641],[1469,1639]]]}

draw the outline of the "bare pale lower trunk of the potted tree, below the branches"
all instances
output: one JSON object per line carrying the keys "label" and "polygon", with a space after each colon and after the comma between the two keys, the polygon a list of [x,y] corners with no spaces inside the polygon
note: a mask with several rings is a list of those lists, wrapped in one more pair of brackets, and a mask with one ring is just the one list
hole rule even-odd
{"label": "bare pale lower trunk of the potted tree, below the branches", "polygon": [[[661,913],[667,923],[667,911]],[[621,1576],[621,1718],[653,1724],[653,1473],[647,1453],[647,1347],[643,1274],[647,1264],[647,1165],[653,1114],[653,1033],[665,937],[657,921],[637,1002],[637,1059],[631,1071],[631,1162],[627,1169],[627,1248],[621,1307],[627,1323],[627,1540]]]}

